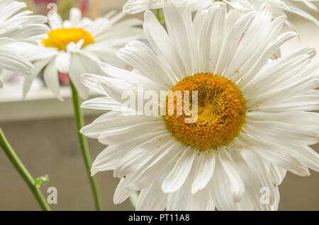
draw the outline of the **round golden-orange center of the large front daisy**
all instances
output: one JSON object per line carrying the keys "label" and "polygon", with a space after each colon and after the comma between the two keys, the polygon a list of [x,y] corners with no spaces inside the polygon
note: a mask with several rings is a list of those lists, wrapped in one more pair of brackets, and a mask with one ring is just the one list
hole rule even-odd
{"label": "round golden-orange center of the large front daisy", "polygon": [[[232,141],[242,130],[245,122],[246,104],[242,92],[230,79],[214,74],[196,74],[179,81],[172,93],[181,91],[183,98],[174,96],[174,115],[169,115],[169,96],[167,114],[164,116],[167,129],[174,137],[187,146],[199,150],[223,146]],[[189,109],[197,111],[197,120],[186,123],[190,114],[177,114],[177,105],[183,105],[184,95],[189,91]],[[197,108],[192,101],[192,91],[197,91]]]}

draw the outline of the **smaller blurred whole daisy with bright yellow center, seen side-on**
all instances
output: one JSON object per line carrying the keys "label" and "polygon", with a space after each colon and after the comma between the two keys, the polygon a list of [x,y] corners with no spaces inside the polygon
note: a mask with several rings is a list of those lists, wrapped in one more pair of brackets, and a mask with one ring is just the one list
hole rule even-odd
{"label": "smaller blurred whole daisy with bright yellow center, seen side-on", "polygon": [[111,11],[103,18],[91,20],[82,18],[79,8],[72,8],[69,20],[62,21],[58,13],[50,13],[48,38],[38,45],[21,43],[17,46],[35,67],[33,74],[25,77],[23,98],[26,98],[35,77],[44,69],[45,84],[58,99],[62,100],[58,72],[69,74],[79,96],[86,99],[89,90],[79,81],[79,76],[86,72],[99,73],[100,60],[125,67],[127,64],[116,57],[116,52],[128,41],[143,36],[142,28],[138,28],[142,21],[136,18],[120,21],[123,16],[125,13]]}

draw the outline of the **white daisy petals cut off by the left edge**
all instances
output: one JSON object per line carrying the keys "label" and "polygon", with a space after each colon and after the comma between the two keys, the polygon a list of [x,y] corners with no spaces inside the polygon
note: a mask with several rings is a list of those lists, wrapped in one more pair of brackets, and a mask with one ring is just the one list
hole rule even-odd
{"label": "white daisy petals cut off by the left edge", "polygon": [[21,41],[32,42],[40,35],[43,37],[48,28],[43,25],[47,21],[45,16],[32,16],[31,11],[21,11],[25,7],[26,4],[19,1],[0,1],[0,68],[31,74],[33,65],[9,46]]}

